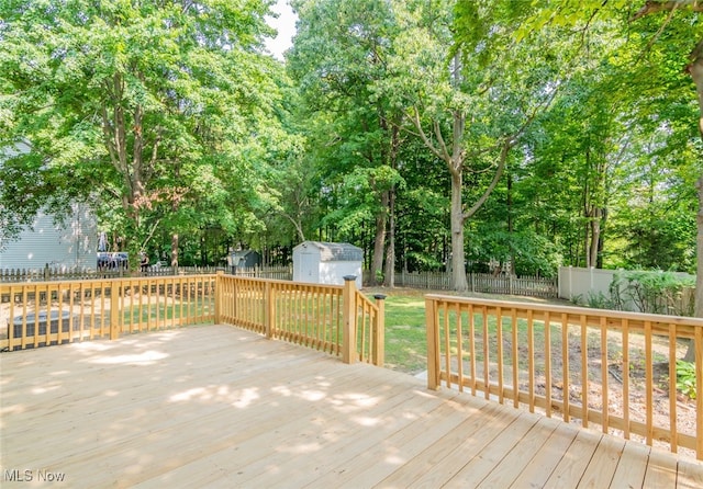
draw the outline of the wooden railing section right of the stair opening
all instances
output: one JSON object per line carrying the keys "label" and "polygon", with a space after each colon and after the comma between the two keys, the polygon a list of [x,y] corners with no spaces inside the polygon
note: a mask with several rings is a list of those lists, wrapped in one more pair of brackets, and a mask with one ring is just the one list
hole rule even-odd
{"label": "wooden railing section right of the stair opening", "polygon": [[[703,319],[440,295],[425,304],[431,389],[482,393],[703,459]],[[677,398],[690,342],[695,400]],[[687,425],[684,410],[696,412]]]}

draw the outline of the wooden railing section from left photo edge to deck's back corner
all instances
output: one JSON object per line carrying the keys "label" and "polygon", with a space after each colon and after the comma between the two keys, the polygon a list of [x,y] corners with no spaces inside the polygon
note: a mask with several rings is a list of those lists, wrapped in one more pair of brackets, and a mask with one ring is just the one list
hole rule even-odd
{"label": "wooden railing section from left photo edge to deck's back corner", "polygon": [[0,284],[0,349],[212,322],[215,275]]}

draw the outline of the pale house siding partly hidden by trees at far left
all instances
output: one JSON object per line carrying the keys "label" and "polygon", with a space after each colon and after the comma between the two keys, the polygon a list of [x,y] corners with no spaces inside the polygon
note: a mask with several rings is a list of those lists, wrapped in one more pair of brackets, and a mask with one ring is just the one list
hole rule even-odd
{"label": "pale house siding partly hidden by trees at far left", "polygon": [[0,251],[0,269],[94,269],[98,229],[94,216],[83,206],[63,225],[40,213],[31,227],[22,230]]}

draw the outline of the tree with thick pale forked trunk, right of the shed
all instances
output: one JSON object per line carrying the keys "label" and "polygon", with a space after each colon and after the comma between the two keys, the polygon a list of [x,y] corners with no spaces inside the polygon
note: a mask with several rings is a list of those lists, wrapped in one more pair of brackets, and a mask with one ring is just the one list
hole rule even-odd
{"label": "tree with thick pale forked trunk, right of the shed", "polygon": [[[529,46],[509,42],[521,15],[511,5],[408,2],[399,15],[403,29],[394,39],[391,77],[378,87],[404,110],[412,125],[406,130],[448,172],[450,260],[457,291],[468,288],[465,225],[500,182],[524,129],[554,96],[549,70],[557,57],[543,62],[539,41]],[[484,181],[482,174],[491,177]],[[472,182],[483,186],[467,185]],[[465,204],[467,193],[470,206]]]}

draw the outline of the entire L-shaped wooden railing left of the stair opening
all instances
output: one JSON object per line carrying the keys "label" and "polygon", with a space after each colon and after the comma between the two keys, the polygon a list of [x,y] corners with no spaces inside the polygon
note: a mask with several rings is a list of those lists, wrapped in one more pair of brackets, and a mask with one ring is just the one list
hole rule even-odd
{"label": "entire L-shaped wooden railing left of the stair opening", "polygon": [[[383,298],[355,287],[207,275],[0,284],[0,349],[227,323],[383,364]],[[7,333],[2,331],[7,325]],[[2,338],[7,337],[7,338]]]}

